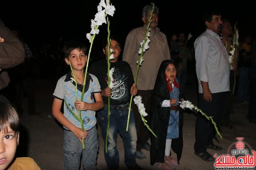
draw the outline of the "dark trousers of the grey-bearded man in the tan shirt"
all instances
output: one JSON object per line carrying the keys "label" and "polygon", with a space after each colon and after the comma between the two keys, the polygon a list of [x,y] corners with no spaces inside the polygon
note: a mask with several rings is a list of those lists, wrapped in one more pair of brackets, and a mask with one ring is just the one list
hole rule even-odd
{"label": "dark trousers of the grey-bearded man in the tan shirt", "polygon": [[[145,119],[148,121],[147,124],[150,125],[150,110],[151,110],[151,93],[152,90],[139,90],[137,96],[142,97],[142,103],[144,104],[145,111],[148,113],[148,116],[145,116]],[[132,110],[134,112],[135,126],[137,130],[137,146],[136,150],[141,150],[141,147],[148,141],[150,137],[150,132],[147,127],[143,124],[140,113],[138,112],[137,105],[132,102]]]}

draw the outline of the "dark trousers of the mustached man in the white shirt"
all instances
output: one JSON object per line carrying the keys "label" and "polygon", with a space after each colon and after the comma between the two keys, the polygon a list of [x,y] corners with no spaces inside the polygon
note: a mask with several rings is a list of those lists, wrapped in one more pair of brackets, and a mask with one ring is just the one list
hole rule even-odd
{"label": "dark trousers of the mustached man in the white shirt", "polygon": [[[218,120],[222,113],[225,94],[226,92],[212,94],[212,102],[206,102],[203,98],[203,94],[199,94],[199,108],[206,113],[207,116],[212,116],[217,127]],[[215,128],[212,123],[204,118],[201,113],[198,113],[198,117],[195,122],[195,152],[206,152],[206,147],[213,144],[212,139],[214,138],[215,133]]]}

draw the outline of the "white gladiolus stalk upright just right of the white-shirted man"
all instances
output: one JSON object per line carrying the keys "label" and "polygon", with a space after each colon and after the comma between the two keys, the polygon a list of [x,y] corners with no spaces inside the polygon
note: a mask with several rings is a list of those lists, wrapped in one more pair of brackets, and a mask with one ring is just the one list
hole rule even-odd
{"label": "white gladiolus stalk upright just right of the white-shirted man", "polygon": [[[231,45],[231,51],[230,51],[230,54],[229,54],[229,57],[228,57],[230,70],[233,70],[232,64],[233,64],[234,54],[235,54],[235,51],[236,51],[236,47],[239,46],[239,42],[238,42],[239,34],[238,34],[238,29],[236,28],[236,24],[234,26],[234,35],[233,35],[233,40],[232,40],[232,45]],[[233,95],[234,95],[234,92],[235,92],[235,86],[236,86],[236,74],[234,74]]]}

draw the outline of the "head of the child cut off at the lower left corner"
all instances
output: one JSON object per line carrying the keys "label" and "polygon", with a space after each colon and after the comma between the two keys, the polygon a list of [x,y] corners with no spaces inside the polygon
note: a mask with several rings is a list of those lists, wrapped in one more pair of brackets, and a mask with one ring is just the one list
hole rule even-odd
{"label": "head of the child cut off at the lower left corner", "polygon": [[19,117],[11,105],[0,102],[0,170],[7,170],[19,143]]}

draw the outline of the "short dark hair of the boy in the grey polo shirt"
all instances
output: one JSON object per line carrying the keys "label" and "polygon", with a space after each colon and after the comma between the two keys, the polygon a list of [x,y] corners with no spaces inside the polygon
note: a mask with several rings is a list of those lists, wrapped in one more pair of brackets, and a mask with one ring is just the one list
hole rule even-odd
{"label": "short dark hair of the boy in the grey polo shirt", "polygon": [[76,48],[83,51],[87,55],[87,47],[83,42],[70,40],[63,47],[64,58],[68,58],[70,51],[75,50]]}

